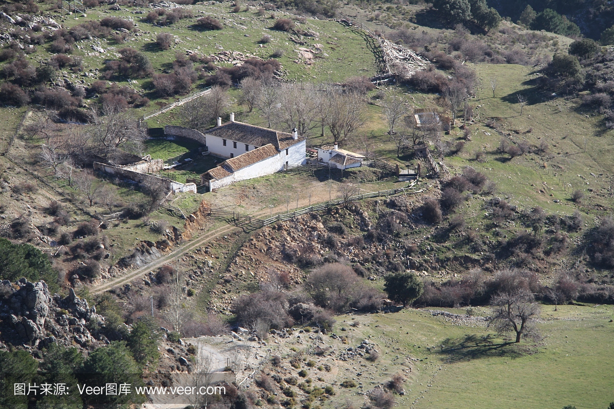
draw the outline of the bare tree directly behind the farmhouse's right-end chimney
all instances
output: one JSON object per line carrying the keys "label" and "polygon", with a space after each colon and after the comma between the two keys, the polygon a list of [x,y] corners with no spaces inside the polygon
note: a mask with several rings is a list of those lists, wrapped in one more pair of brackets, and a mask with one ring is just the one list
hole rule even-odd
{"label": "bare tree directly behind the farmhouse's right-end chimney", "polygon": [[313,84],[285,84],[281,86],[279,101],[279,123],[287,129],[297,128],[301,136],[317,126],[316,93]]}

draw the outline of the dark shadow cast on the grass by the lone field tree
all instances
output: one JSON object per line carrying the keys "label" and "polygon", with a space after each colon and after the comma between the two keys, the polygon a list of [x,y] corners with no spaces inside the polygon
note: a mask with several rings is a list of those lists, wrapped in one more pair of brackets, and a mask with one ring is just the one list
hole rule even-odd
{"label": "dark shadow cast on the grass by the lone field tree", "polygon": [[494,356],[517,358],[526,353],[514,342],[495,342],[495,337],[491,334],[446,338],[441,342],[441,350],[438,352],[448,356],[449,362],[471,361]]}

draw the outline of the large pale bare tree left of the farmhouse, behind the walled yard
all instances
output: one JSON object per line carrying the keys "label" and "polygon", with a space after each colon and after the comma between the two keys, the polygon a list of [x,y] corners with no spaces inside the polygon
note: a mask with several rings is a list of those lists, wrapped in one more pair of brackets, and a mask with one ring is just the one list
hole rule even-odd
{"label": "large pale bare tree left of the farmhouse, behind the walled yard", "polygon": [[112,156],[119,149],[130,153],[142,152],[142,141],[147,136],[138,128],[131,113],[119,107],[107,106],[102,112],[94,110],[92,118],[92,136],[98,155]]}

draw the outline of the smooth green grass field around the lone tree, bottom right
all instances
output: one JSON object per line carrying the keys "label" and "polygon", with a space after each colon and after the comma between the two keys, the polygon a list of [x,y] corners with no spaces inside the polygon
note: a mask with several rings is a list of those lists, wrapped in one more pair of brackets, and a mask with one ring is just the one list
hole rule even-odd
{"label": "smooth green grass field around the lone tree, bottom right", "polygon": [[[475,310],[478,315],[488,313],[485,307]],[[467,346],[450,353],[442,352],[446,338],[454,343],[467,335],[494,334],[484,327],[453,325],[421,310],[356,317],[361,325],[349,332],[339,331],[351,322],[341,316],[335,332],[347,335],[349,346],[369,338],[381,348],[378,364],[365,361],[367,368],[359,369],[365,391],[403,373],[406,395],[395,397],[397,407],[607,409],[614,401],[613,313],[612,305],[565,305],[558,312],[543,305],[542,342],[500,346],[502,340],[494,338],[497,348]],[[347,377],[354,375],[344,372],[339,381]],[[367,381],[370,377],[375,379]],[[347,394],[361,402],[362,397]]]}

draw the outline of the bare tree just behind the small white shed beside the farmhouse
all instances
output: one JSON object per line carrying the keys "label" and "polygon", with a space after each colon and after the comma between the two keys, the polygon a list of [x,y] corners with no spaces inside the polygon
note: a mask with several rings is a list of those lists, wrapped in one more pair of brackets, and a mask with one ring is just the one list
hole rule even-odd
{"label": "bare tree just behind the small white shed beside the farmhouse", "polygon": [[367,122],[365,103],[357,94],[328,93],[330,111],[328,112],[327,125],[335,143],[351,137]]}

